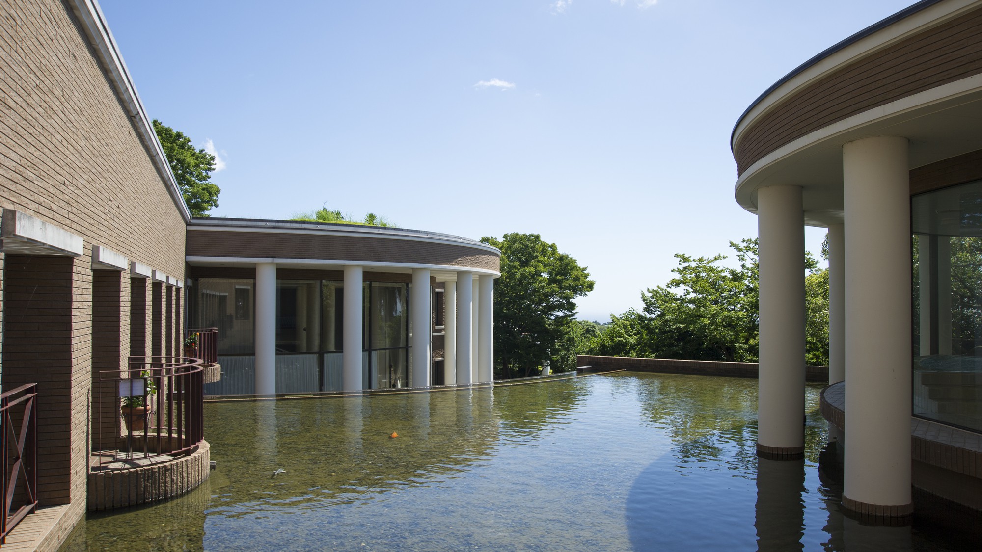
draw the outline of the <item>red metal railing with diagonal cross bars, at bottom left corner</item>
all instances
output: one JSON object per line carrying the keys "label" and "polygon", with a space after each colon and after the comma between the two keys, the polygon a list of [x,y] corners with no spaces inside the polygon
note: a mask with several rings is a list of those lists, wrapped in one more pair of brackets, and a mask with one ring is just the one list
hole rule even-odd
{"label": "red metal railing with diagonal cross bars, at bottom left corner", "polygon": [[[0,544],[27,514],[37,509],[37,384],[28,383],[0,395],[0,450],[3,459],[4,511]],[[20,431],[18,430],[20,425]],[[24,484],[19,487],[18,483]],[[17,505],[15,505],[15,502]],[[17,510],[15,511],[15,508]]]}

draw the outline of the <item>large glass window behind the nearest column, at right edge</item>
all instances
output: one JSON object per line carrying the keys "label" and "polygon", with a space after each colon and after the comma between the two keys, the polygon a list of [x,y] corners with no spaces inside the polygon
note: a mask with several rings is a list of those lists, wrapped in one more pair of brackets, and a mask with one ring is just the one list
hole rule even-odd
{"label": "large glass window behind the nearest column, at right edge", "polygon": [[982,431],[982,182],[916,195],[913,414]]}

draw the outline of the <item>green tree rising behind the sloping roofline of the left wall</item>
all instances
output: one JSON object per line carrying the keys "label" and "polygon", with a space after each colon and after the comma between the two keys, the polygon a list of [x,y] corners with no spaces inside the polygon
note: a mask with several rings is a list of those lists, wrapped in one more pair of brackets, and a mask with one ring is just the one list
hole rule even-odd
{"label": "green tree rising behind the sloping roofline of the left wall", "polygon": [[215,156],[201,149],[194,149],[191,138],[183,133],[153,120],[153,130],[157,133],[171,172],[178,181],[181,194],[191,211],[191,216],[206,217],[212,207],[218,206],[218,193],[222,190],[211,182],[215,170]]}

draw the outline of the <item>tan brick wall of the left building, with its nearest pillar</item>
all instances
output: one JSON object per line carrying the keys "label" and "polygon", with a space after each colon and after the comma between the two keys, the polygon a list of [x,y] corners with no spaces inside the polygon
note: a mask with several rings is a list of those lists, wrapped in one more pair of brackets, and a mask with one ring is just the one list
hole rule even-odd
{"label": "tan brick wall of the left building, with its nearest pillar", "polygon": [[[126,317],[129,282],[115,296],[112,284],[93,282],[92,247],[183,278],[185,221],[71,10],[59,0],[6,0],[0,22],[0,207],[84,242],[78,258],[2,259],[0,377],[6,389],[39,384],[41,504],[82,506],[93,362],[108,365],[146,342],[126,337],[139,326]],[[110,320],[117,303],[120,317]]]}

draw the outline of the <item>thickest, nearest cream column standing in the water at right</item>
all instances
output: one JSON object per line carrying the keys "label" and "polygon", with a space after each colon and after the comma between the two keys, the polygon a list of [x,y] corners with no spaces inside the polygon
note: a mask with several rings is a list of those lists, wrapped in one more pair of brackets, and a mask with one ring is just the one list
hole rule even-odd
{"label": "thickest, nearest cream column standing in the water at right", "polygon": [[846,210],[843,505],[861,514],[901,516],[912,511],[910,189],[906,138],[864,138],[846,143],[843,171]]}

